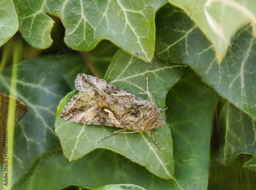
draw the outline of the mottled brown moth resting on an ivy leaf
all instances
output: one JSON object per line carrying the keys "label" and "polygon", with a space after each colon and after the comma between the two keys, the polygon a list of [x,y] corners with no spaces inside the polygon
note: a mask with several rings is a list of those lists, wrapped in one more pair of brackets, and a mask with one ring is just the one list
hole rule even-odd
{"label": "mottled brown moth resting on an ivy leaf", "polygon": [[[123,128],[103,137],[98,142],[115,133],[147,131],[148,136],[153,137],[160,150],[152,129],[165,126],[161,112],[167,108],[158,109],[155,99],[148,91],[148,75],[151,66],[152,62],[147,72],[146,91],[134,84],[143,91],[141,94],[148,95],[151,102],[120,89],[106,80],[87,74],[78,74],[75,87],[79,92],[65,105],[60,116],[76,123]],[[124,130],[132,132],[122,132]]]}

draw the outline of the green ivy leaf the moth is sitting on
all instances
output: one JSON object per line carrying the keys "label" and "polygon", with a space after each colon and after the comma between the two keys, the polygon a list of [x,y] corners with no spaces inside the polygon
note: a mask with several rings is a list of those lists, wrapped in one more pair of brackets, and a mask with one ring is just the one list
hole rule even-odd
{"label": "green ivy leaf the moth is sitting on", "polygon": [[[141,90],[133,85],[134,81],[137,86],[146,89],[145,79],[148,66],[149,64],[145,64],[142,60],[118,51],[106,73],[106,80],[148,100],[145,95],[138,94]],[[166,93],[181,77],[184,68],[181,65],[167,64],[154,59],[149,78],[149,89],[159,108],[165,107]],[[69,160],[76,160],[94,149],[103,148],[124,155],[145,166],[159,177],[165,179],[172,177],[174,172],[173,144],[168,126],[153,130],[154,137],[162,149],[161,151],[158,150],[152,137],[149,137],[146,132],[115,134],[98,143],[98,140],[117,131],[118,128],[84,125],[63,120],[60,117],[60,112],[76,93],[77,91],[73,91],[60,101],[55,122],[55,131],[60,138],[63,153]],[[164,114],[162,115],[165,119]]]}

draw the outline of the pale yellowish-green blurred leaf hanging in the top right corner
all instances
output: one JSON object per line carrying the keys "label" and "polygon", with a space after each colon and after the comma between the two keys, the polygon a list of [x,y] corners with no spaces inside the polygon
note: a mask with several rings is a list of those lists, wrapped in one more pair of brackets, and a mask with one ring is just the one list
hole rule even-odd
{"label": "pale yellowish-green blurred leaf hanging in the top right corner", "polygon": [[[225,57],[231,38],[240,28],[250,22],[254,31],[256,29],[255,1],[168,1],[185,10],[194,20],[204,35],[211,41],[220,60]],[[181,22],[179,25],[185,25],[185,23]]]}

